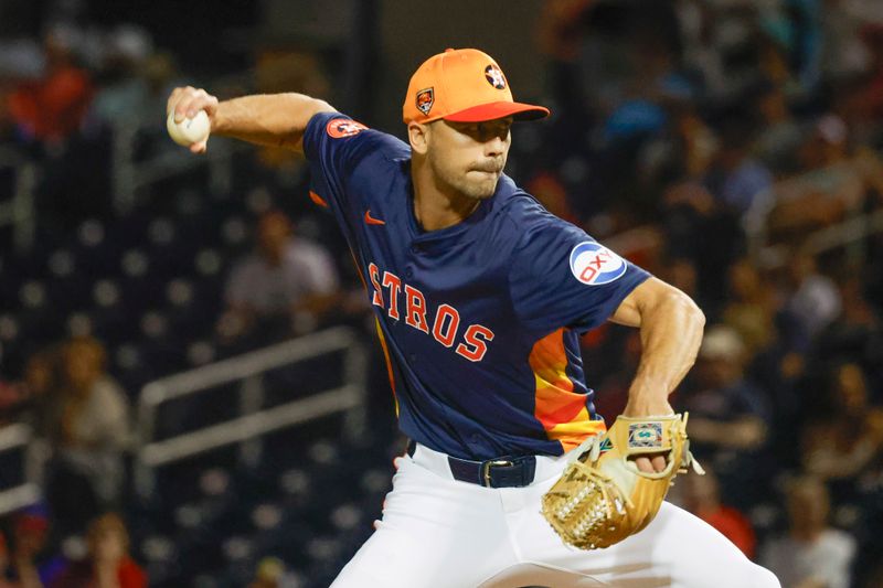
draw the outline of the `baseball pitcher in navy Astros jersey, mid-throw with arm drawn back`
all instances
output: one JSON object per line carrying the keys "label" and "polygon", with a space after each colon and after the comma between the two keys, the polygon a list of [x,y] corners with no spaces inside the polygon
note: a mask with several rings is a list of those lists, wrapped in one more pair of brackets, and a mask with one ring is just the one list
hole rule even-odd
{"label": "baseball pitcher in navy Astros jersey, mid-throw with arm drawn back", "polygon": [[[512,124],[549,110],[514,101],[489,55],[417,68],[407,142],[298,94],[219,103],[185,87],[168,107],[174,124],[204,110],[213,135],[302,150],[364,279],[411,443],[336,588],[779,586],[663,502],[699,469],[668,396],[702,312],[503,173]],[[605,321],[640,329],[643,349],[609,429],[578,344]]]}

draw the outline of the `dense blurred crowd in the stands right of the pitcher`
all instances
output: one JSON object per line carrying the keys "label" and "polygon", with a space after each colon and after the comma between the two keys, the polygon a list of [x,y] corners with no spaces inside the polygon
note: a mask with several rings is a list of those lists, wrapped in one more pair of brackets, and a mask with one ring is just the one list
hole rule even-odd
{"label": "dense blurred crowd in the stands right of the pitcher", "polygon": [[[864,232],[883,211],[873,4],[575,0],[546,3],[540,26],[557,116],[519,172],[705,311],[672,404],[709,475],[672,500],[783,586],[880,581],[883,238]],[[608,418],[639,352],[634,332],[585,340]]]}

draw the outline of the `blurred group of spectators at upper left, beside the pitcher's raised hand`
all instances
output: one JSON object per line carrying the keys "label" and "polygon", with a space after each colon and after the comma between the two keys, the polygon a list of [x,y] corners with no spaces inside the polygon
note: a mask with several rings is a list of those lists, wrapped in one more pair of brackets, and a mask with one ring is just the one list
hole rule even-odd
{"label": "blurred group of spectators at upper left, beside the pitcher's raised hand", "polygon": [[0,46],[0,145],[43,165],[35,194],[41,222],[64,231],[107,217],[114,130],[155,122],[177,75],[173,56],[153,51],[136,25],[84,30],[58,22],[42,42],[17,38]]}

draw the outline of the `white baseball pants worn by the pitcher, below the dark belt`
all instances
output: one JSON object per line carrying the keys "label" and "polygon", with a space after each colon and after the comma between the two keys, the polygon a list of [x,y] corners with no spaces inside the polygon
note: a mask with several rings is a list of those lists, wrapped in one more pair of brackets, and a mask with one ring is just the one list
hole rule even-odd
{"label": "white baseball pants worn by the pitcher, below the dark belt", "polygon": [[531,485],[482,488],[455,480],[447,456],[418,445],[413,458],[396,458],[383,520],[332,587],[779,588],[717,531],[669,503],[611,547],[565,545],[540,513],[565,464],[538,457]]}

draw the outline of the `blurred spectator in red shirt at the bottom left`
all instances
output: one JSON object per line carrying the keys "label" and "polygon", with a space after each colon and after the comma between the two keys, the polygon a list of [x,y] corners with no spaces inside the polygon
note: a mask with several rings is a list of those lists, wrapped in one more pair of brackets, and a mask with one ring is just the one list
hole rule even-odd
{"label": "blurred spectator in red shirt at the bottom left", "polygon": [[71,562],[46,588],[147,588],[147,575],[129,557],[129,533],[119,515],[94,520],[86,542],[87,556]]}

